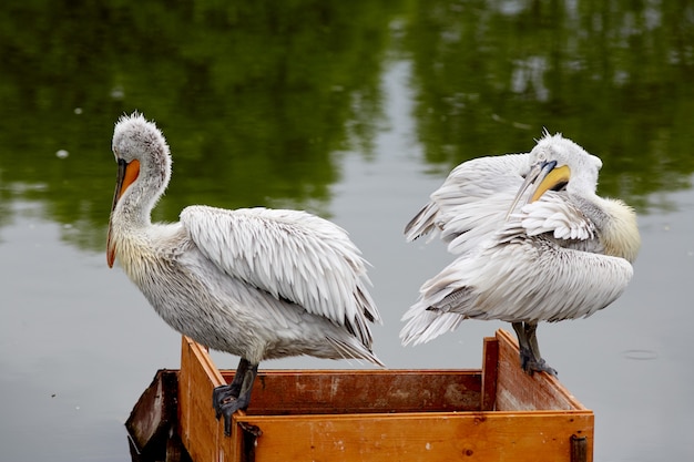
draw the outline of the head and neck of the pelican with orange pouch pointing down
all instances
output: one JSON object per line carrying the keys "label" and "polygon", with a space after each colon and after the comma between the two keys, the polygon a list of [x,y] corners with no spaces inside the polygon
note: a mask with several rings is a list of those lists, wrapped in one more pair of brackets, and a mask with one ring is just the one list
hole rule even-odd
{"label": "head and neck of the pelican with orange pouch pointing down", "polygon": [[[118,176],[109,235],[106,260],[109,267],[115,260],[114,226],[120,222],[146,226],[150,214],[161,197],[171,177],[171,154],[162,132],[137,112],[123,115],[113,132],[113,155],[118,163]],[[127,213],[129,219],[119,215]]]}

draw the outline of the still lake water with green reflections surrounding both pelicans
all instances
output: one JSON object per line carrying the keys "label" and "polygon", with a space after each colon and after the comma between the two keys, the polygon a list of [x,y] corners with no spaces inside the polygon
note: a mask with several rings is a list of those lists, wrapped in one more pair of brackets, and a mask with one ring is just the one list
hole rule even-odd
{"label": "still lake water with green reflections surrounding both pelicans", "polygon": [[105,265],[110,140],[135,109],[174,156],[156,219],[269,205],[349,230],[391,368],[479,368],[509,328],[400,347],[401,314],[450,260],[404,225],[457,163],[563,132],[603,158],[600,193],[637,207],[643,248],[612,306],[540,327],[544,357],[595,412],[596,461],[693,460],[694,12],[664,3],[0,7],[0,461],[129,461],[124,420],[178,367],[178,335]]}

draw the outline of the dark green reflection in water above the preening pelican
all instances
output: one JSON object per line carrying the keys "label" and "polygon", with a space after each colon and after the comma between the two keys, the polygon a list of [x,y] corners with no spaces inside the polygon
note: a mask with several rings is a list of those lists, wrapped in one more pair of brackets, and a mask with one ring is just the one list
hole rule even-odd
{"label": "dark green reflection in water above the preening pelican", "polygon": [[547,126],[603,158],[602,193],[642,206],[694,171],[688,2],[427,1],[411,18],[429,161],[529,150]]}

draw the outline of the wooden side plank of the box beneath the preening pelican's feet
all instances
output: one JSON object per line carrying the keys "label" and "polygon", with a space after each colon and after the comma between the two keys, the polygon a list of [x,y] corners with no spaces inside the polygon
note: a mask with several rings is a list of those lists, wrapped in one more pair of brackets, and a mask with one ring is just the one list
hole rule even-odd
{"label": "wooden side plank of the box beneath the preening pelican's feet", "polygon": [[498,411],[586,410],[561,382],[545,372],[527,374],[519,366],[516,339],[504,330],[499,340]]}

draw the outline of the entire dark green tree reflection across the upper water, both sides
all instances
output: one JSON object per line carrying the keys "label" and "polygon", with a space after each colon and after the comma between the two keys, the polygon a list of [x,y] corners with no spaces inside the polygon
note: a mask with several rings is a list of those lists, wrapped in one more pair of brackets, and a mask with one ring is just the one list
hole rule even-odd
{"label": "entire dark green tree reflection across the upper water, both sides", "polygon": [[12,201],[40,201],[85,248],[103,247],[112,129],[135,109],[174,154],[157,218],[192,203],[328,215],[339,153],[368,162],[388,122],[394,60],[411,63],[416,137],[437,174],[527,151],[543,126],[603,157],[601,192],[642,212],[694,172],[684,1],[24,0],[0,12],[0,225]]}

